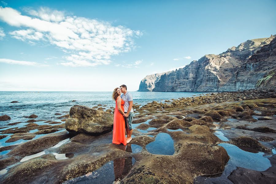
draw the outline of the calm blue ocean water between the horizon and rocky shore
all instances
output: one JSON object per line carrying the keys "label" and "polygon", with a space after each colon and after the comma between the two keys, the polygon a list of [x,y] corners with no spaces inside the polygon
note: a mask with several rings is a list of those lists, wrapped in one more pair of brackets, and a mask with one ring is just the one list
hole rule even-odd
{"label": "calm blue ocean water between the horizon and rocky shore", "polygon": [[[145,105],[148,102],[164,102],[169,99],[191,97],[193,95],[206,94],[202,92],[139,92],[130,91],[133,103]],[[14,122],[25,122],[29,119],[25,116],[36,114],[39,119],[56,120],[55,113],[69,112],[74,105],[87,107],[98,104],[107,105],[105,108],[114,107],[115,102],[111,98],[112,92],[62,92],[62,91],[0,91],[0,116],[7,114],[9,121],[0,121],[0,125]],[[76,102],[72,102],[76,100]],[[18,101],[19,103],[10,103]],[[66,113],[62,113],[64,115]]]}

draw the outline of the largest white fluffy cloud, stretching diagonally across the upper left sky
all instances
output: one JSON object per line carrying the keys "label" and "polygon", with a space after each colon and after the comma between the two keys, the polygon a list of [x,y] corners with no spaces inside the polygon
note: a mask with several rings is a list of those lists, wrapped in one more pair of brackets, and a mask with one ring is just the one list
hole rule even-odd
{"label": "largest white fluffy cloud, stretching diagonally across the upper left sky", "polygon": [[112,26],[109,22],[77,16],[65,16],[64,12],[40,8],[27,10],[31,16],[6,7],[0,7],[0,19],[26,30],[13,31],[13,38],[34,44],[48,41],[65,53],[64,66],[96,66],[109,64],[111,56],[129,52],[134,38],[143,33],[124,26]]}

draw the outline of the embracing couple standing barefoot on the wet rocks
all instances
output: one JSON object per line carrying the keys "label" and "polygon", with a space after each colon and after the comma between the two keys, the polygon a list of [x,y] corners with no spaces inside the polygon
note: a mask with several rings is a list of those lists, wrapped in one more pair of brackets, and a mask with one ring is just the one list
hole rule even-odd
{"label": "embracing couple standing barefoot on the wet rocks", "polygon": [[[132,140],[133,98],[124,84],[114,89],[112,98],[116,104],[112,143],[126,145]],[[127,137],[125,137],[125,132],[127,132]]]}

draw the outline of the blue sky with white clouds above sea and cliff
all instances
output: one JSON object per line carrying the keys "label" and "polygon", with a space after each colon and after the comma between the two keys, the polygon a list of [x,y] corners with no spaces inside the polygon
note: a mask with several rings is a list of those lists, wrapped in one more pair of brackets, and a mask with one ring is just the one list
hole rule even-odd
{"label": "blue sky with white clouds above sea and cliff", "polygon": [[0,0],[0,91],[136,91],[146,75],[276,34],[275,9],[275,0]]}

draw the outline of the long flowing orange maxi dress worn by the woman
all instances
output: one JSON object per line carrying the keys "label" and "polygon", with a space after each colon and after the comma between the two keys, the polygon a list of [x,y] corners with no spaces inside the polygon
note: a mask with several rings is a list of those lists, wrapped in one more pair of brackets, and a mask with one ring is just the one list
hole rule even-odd
{"label": "long flowing orange maxi dress worn by the woman", "polygon": [[[119,97],[121,98],[121,97]],[[125,117],[119,112],[117,106],[117,100],[115,103],[115,111],[114,111],[114,121],[113,121],[113,144],[124,144],[126,145],[126,138],[125,138]],[[125,101],[121,101],[121,109],[124,111],[124,103]]]}

